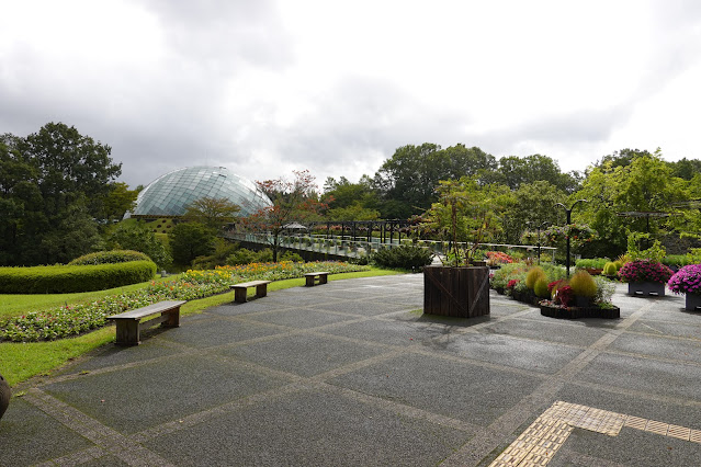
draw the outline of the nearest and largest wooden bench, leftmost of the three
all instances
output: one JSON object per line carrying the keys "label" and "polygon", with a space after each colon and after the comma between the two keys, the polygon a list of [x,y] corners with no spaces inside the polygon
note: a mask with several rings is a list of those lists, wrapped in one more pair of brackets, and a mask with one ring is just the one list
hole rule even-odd
{"label": "nearest and largest wooden bench, leftmost of the three", "polygon": [[[156,323],[160,323],[162,327],[167,328],[178,328],[180,326],[180,306],[183,304],[186,304],[186,301],[159,301],[143,308],[108,317],[108,319],[114,321],[117,328],[115,344],[140,344],[140,331]],[[160,316],[142,322],[143,318],[156,314],[160,314]]]}

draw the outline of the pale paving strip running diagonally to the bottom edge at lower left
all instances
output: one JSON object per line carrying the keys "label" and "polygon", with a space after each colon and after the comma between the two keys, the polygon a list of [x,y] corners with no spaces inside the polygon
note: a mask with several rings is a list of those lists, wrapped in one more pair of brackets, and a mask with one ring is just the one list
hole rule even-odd
{"label": "pale paving strip running diagonally to the bottom edge at lower left", "polygon": [[100,423],[38,388],[30,389],[24,396],[24,399],[64,426],[88,438],[98,447],[118,457],[131,466],[172,465],[152,451],[129,441],[120,432]]}

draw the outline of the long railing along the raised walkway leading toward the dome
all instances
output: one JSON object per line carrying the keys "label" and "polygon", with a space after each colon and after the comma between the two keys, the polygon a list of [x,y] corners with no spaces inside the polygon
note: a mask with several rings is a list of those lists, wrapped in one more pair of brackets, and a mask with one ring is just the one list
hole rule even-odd
{"label": "long railing along the raised walkway leading toward the dome", "polygon": [[[273,236],[269,234],[250,234],[250,232],[227,232],[226,238],[238,241],[246,241],[250,243],[259,243],[261,246],[271,246],[273,243]],[[376,251],[396,248],[402,244],[415,244],[417,247],[430,250],[438,257],[445,255],[449,248],[448,241],[437,240],[417,240],[415,243],[411,239],[394,239],[382,241],[380,238],[371,238],[368,241],[366,237],[352,237],[352,236],[327,236],[327,235],[283,235],[280,236],[280,247],[291,250],[312,251],[320,254],[335,254],[346,258],[363,258],[368,257]],[[461,243],[462,248],[470,248],[471,243]],[[536,251],[538,246],[532,244],[504,244],[504,243],[480,243],[480,247],[486,247],[494,250],[506,249],[522,249],[524,251]],[[550,252],[552,254],[553,262],[555,261],[555,248],[540,247],[542,252]]]}

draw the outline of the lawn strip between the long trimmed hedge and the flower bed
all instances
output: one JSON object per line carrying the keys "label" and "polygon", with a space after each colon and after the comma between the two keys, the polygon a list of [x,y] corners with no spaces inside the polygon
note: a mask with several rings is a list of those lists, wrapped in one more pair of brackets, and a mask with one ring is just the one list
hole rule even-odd
{"label": "lawn strip between the long trimmed hedge and the flower bed", "polygon": [[[167,277],[157,277],[154,281],[166,280]],[[0,295],[0,318],[24,315],[30,311],[42,311],[67,304],[74,305],[90,303],[110,295],[138,291],[139,288],[147,287],[150,283],[151,281],[132,284],[124,287],[110,288],[108,291],[81,292],[77,294]]]}

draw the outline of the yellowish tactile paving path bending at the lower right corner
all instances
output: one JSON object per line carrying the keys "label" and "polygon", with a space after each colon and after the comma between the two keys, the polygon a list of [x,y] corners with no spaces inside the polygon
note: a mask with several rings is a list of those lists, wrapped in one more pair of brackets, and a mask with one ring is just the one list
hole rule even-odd
{"label": "yellowish tactile paving path bending at the lower right corner", "polygon": [[545,466],[575,428],[617,436],[623,426],[701,443],[701,430],[558,400],[535,419],[490,467]]}

